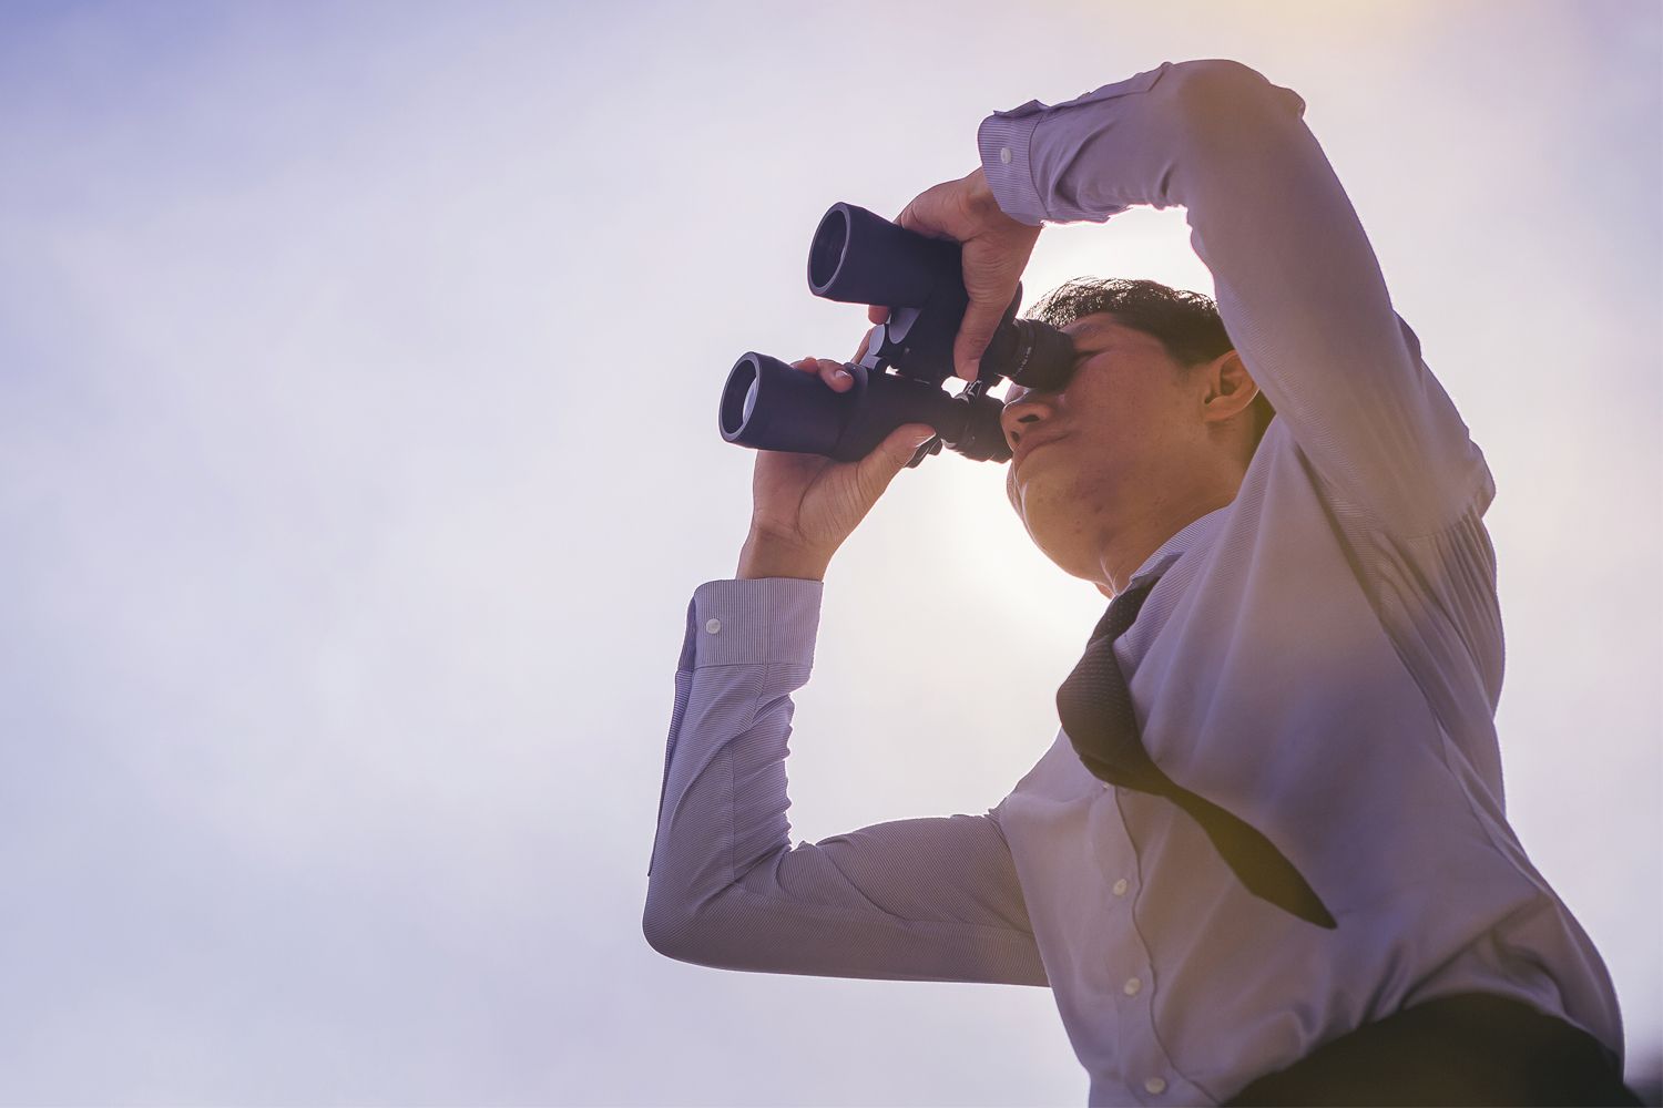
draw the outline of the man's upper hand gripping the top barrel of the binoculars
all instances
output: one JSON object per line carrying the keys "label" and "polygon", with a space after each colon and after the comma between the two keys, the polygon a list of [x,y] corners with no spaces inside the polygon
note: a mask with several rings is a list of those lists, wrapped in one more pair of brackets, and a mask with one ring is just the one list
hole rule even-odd
{"label": "man's upper hand gripping the top barrel of the binoculars", "polygon": [[[908,231],[965,244],[965,291],[970,292],[970,307],[953,344],[953,365],[960,377],[975,380],[976,365],[1016,296],[1016,282],[1034,252],[1039,228],[1018,223],[999,209],[981,166],[966,178],[925,189],[901,211],[896,223]],[[881,324],[890,317],[890,309],[873,306],[866,316]]]}

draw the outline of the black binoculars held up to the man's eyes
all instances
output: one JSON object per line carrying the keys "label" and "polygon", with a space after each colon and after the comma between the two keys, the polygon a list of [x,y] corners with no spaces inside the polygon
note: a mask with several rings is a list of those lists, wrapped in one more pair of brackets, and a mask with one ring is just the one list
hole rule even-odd
{"label": "black binoculars held up to the man's eyes", "polygon": [[[846,365],[855,379],[836,392],[817,374],[750,351],[728,372],[718,414],[722,437],[758,450],[820,453],[855,462],[903,424],[930,424],[936,437],[908,467],[946,444],[978,462],[1008,462],[999,425],[1004,404],[986,389],[1009,379],[1061,389],[1074,369],[1074,341],[1048,324],[1016,319],[1021,286],[981,357],[976,380],[950,394],[953,341],[970,306],[958,243],[908,231],[865,208],[832,204],[808,248],[808,291],[845,304],[880,304],[866,354]],[[893,369],[893,372],[890,372]]]}

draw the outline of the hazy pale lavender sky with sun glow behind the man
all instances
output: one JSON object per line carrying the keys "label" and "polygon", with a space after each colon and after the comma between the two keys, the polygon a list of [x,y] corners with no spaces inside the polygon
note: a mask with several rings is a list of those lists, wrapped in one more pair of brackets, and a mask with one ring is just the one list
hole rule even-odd
{"label": "hazy pale lavender sky with sun glow behind the man", "polygon": [[[1660,7],[0,3],[0,1100],[1083,1103],[1046,990],[640,935],[820,213],[1166,60],[1299,91],[1497,475],[1513,822],[1663,1043]],[[1046,231],[1211,292],[1181,211]],[[958,457],[833,563],[793,837],[981,812],[1101,598]]]}

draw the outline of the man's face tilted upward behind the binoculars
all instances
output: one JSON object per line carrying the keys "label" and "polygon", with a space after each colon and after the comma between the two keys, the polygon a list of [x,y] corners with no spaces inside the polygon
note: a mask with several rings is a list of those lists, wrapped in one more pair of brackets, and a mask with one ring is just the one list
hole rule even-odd
{"label": "man's face tilted upward behind the binoculars", "polygon": [[1064,327],[1076,365],[1058,392],[1011,385],[1004,488],[1028,535],[1063,570],[1101,580],[1118,537],[1157,530],[1209,452],[1197,380],[1161,341],[1111,314]]}

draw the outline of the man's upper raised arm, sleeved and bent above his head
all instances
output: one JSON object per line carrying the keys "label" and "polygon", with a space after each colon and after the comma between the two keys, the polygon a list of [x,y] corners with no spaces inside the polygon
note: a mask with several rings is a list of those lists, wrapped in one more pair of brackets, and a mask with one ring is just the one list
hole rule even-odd
{"label": "man's upper raised arm, sleeved and bent above his head", "polygon": [[[1487,507],[1490,473],[1302,113],[1295,93],[1222,60],[1169,61],[1054,108],[1029,101],[983,121],[981,169],[913,201],[926,209],[913,226],[993,241],[1001,219],[1182,206],[1226,331],[1315,470],[1382,528],[1437,532]],[[975,204],[953,201],[973,186],[999,211],[963,216]],[[991,252],[1013,249],[1019,239]],[[965,257],[970,284],[980,266],[970,246]],[[966,331],[991,334],[1013,291],[1014,279],[989,287]]]}

